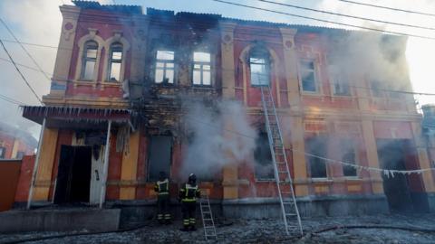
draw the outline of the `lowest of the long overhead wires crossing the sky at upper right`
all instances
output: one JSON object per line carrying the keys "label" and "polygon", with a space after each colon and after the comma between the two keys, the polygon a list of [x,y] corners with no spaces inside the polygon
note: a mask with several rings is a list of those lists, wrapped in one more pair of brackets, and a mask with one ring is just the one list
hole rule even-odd
{"label": "lowest of the long overhead wires crossing the sky at upper right", "polygon": [[251,9],[266,11],[266,12],[269,12],[269,13],[285,14],[285,15],[288,15],[288,16],[293,16],[293,17],[298,17],[298,18],[303,18],[303,19],[308,19],[308,20],[314,20],[314,21],[323,22],[323,23],[333,23],[333,24],[338,24],[338,25],[343,25],[343,26],[348,26],[348,27],[353,27],[353,28],[359,28],[359,29],[362,29],[362,30],[373,31],[373,32],[391,33],[391,34],[396,34],[396,35],[411,36],[411,37],[418,37],[418,38],[422,38],[422,39],[435,40],[435,37],[430,37],[430,36],[411,34],[411,33],[399,33],[399,32],[385,31],[385,30],[381,30],[381,29],[376,29],[376,28],[371,28],[371,27],[364,27],[364,26],[361,26],[361,25],[355,25],[355,24],[350,24],[350,23],[340,23],[340,22],[329,21],[329,20],[320,19],[320,18],[308,17],[308,16],[304,16],[304,15],[299,15],[299,14],[290,14],[290,13],[281,12],[281,11],[272,10],[272,9],[267,9],[267,8],[263,8],[263,7],[256,7],[256,6],[253,6],[253,5],[242,5],[242,4],[237,4],[237,3],[233,3],[233,2],[227,2],[227,1],[223,1],[223,0],[211,0],[211,1],[222,3],[222,4],[227,4],[227,5],[243,6],[243,7],[247,7],[247,8],[251,8]]}

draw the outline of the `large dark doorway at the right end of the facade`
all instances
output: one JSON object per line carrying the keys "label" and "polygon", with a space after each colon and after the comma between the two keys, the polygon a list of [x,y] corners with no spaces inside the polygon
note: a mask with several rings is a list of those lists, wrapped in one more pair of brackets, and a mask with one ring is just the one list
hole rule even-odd
{"label": "large dark doorway at the right end of the facade", "polygon": [[[384,169],[413,170],[418,168],[418,158],[409,140],[380,139],[377,141],[380,165]],[[425,211],[427,197],[419,175],[382,174],[383,190],[391,211]],[[421,192],[421,193],[420,193]]]}

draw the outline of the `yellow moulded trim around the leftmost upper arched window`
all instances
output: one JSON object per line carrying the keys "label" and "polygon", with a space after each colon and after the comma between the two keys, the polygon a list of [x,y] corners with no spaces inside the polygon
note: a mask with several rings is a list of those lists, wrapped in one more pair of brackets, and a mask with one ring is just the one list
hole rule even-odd
{"label": "yellow moulded trim around the leftmost upper arched window", "polygon": [[[82,38],[80,38],[79,42],[77,42],[77,45],[79,46],[79,55],[77,57],[77,65],[75,68],[75,75],[74,75],[74,81],[97,81],[98,80],[98,73],[100,68],[100,61],[102,59],[102,47],[104,46],[104,40],[102,37],[97,35],[97,29],[88,29],[89,33],[86,35],[83,35]],[[97,42],[97,60],[95,61],[95,72],[93,73],[92,80],[82,80],[82,69],[83,69],[83,55],[84,55],[84,48],[85,43],[93,41]]]}

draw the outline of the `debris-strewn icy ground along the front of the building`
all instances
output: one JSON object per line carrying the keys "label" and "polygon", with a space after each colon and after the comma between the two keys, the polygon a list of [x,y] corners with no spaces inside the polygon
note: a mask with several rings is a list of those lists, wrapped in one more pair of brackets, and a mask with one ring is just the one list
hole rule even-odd
{"label": "debris-strewn icy ground along the front of the building", "polygon": [[[294,234],[286,236],[282,222],[276,220],[217,220],[218,239],[209,241],[204,239],[202,228],[198,228],[194,232],[182,232],[179,231],[181,226],[179,222],[160,226],[152,221],[131,231],[43,239],[25,243],[435,243],[434,217],[435,214],[430,213],[307,218],[303,219],[305,230],[303,237],[298,236],[296,231]],[[346,229],[345,226],[366,228]],[[384,228],[372,228],[375,226]],[[387,227],[402,227],[403,230],[386,229]],[[406,230],[408,228],[409,230]],[[320,232],[326,229],[333,230]],[[431,231],[417,231],[417,229]],[[77,234],[78,232],[70,233]],[[19,239],[70,233],[39,232],[0,235],[0,243],[13,243],[12,241]]]}

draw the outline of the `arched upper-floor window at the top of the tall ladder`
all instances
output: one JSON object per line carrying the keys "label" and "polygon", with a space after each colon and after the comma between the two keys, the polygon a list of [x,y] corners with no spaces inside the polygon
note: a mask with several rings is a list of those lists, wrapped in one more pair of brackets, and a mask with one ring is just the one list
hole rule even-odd
{"label": "arched upper-floor window at the top of the tall ladder", "polygon": [[270,58],[264,48],[253,48],[249,52],[251,86],[268,86],[270,83]]}

